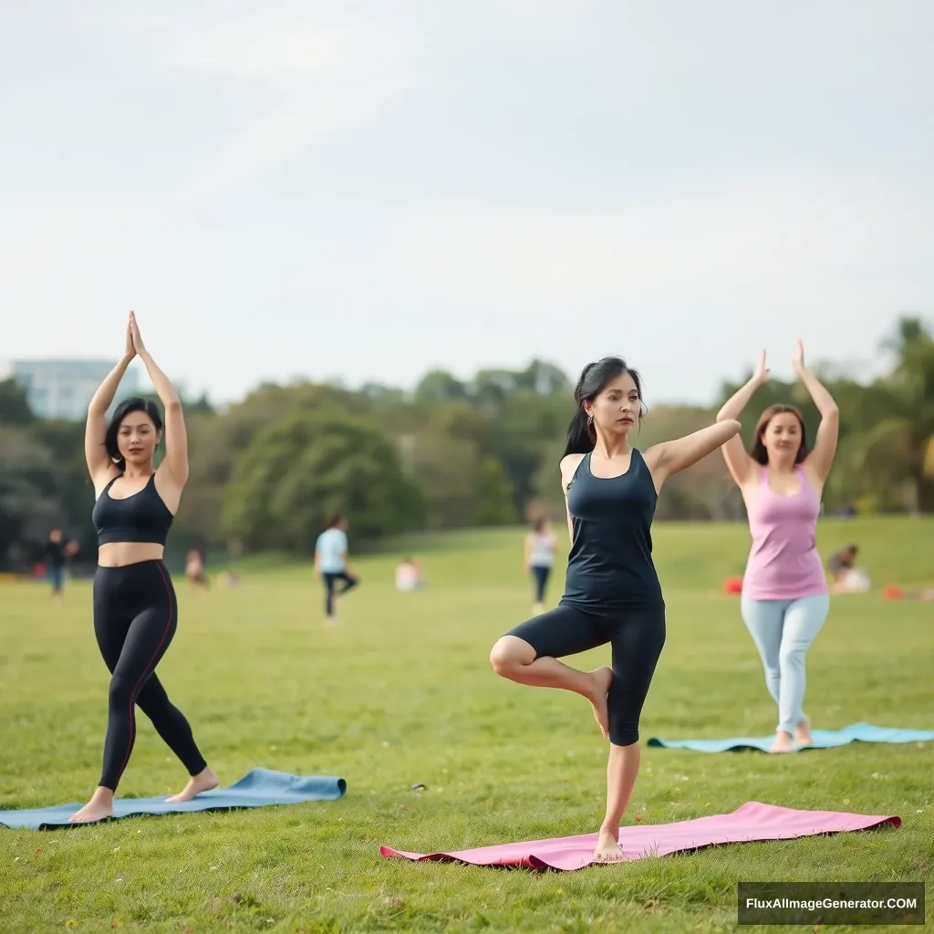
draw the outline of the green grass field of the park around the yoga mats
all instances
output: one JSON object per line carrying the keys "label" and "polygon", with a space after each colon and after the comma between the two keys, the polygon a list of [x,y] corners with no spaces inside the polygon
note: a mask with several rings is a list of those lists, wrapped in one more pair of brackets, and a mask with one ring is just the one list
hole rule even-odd
{"label": "green grass field of the park around the yoga mats", "polygon": [[[339,775],[347,796],[61,832],[0,830],[0,929],[713,931],[736,925],[738,880],[931,879],[934,743],[785,757],[644,749],[624,818],[664,823],[760,800],[899,814],[898,830],[576,873],[379,856],[380,844],[431,852],[600,824],[606,744],[587,702],[504,682],[488,665],[495,639],[529,614],[521,536],[413,539],[361,560],[363,583],[334,629],[321,625],[320,591],[305,568],[245,565],[242,587],[205,595],[177,579],[180,625],[159,672],[222,783],[264,766]],[[876,587],[932,583],[930,521],[821,524],[823,554],[850,540]],[[657,527],[669,635],[643,740],[774,728],[737,598],[719,592],[742,572],[746,541],[742,526]],[[424,591],[393,589],[403,550],[422,559]],[[0,585],[0,809],[83,802],[96,783],[107,676],[90,596],[88,584],[74,583],[56,612],[44,586]],[[932,729],[932,650],[934,604],[835,598],[808,662],[814,726]],[[575,662],[606,658],[598,650]],[[120,794],[170,793],[184,780],[140,716]],[[411,790],[415,783],[426,790]]]}

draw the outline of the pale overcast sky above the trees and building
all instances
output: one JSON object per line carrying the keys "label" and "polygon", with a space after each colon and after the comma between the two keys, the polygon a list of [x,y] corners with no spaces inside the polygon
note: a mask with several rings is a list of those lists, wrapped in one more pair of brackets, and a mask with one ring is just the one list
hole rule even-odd
{"label": "pale overcast sky above the trees and building", "polygon": [[929,0],[35,0],[0,29],[0,357],[217,402],[619,353],[710,400],[934,307]]}

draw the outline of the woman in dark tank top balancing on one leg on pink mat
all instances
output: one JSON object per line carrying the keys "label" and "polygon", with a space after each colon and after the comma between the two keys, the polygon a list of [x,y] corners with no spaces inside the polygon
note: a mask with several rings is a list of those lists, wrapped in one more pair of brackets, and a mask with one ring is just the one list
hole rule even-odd
{"label": "woman in dark tank top balancing on one leg on pink mat", "polygon": [[[548,613],[493,646],[493,670],[519,684],[559,687],[590,701],[610,741],[606,815],[594,857],[622,858],[619,823],[639,772],[639,718],[665,644],[665,602],[652,561],[658,491],[740,431],[722,421],[650,447],[630,445],[642,418],[639,375],[618,357],[589,363],[574,389],[577,411],[560,462],[571,552],[564,596]],[[558,658],[612,646],[612,667],[592,672]]]}

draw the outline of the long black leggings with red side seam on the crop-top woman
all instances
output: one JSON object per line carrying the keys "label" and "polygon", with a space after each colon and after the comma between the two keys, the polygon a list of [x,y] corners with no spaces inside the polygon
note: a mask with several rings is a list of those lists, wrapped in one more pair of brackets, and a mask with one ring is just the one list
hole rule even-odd
{"label": "long black leggings with red side seam on the crop-top woman", "polygon": [[100,785],[117,790],[136,738],[134,705],[181,759],[189,774],[207,765],[181,711],[172,706],[154,671],[172,642],[178,607],[162,561],[94,573],[94,635],[112,677]]}

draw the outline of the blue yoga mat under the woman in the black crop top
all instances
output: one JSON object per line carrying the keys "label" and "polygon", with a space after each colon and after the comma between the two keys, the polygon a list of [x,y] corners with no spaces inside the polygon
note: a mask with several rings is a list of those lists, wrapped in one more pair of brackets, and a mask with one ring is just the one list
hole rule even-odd
{"label": "blue yoga mat under the woman in the black crop top", "polygon": [[[191,811],[233,811],[271,804],[333,801],[344,796],[347,782],[330,775],[290,775],[286,771],[253,769],[226,788],[205,791],[190,801],[170,804],[164,798],[122,798],[114,801],[114,817],[134,814],[188,814]],[[68,818],[82,804],[57,804],[51,808],[0,811],[0,826],[22,830],[87,827],[69,824]]]}

